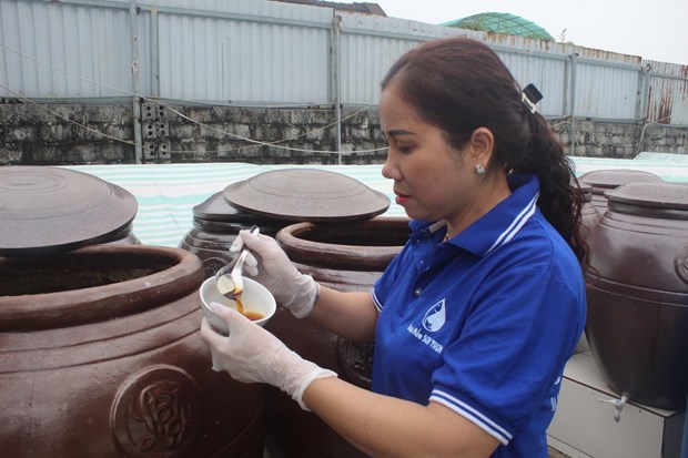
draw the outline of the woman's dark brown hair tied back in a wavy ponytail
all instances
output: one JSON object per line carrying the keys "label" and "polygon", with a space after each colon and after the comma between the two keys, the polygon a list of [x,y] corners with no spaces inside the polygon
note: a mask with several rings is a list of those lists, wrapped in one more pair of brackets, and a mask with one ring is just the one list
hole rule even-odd
{"label": "woman's dark brown hair tied back in a wavy ponytail", "polygon": [[392,80],[399,96],[452,146],[464,146],[477,128],[489,129],[495,151],[488,167],[536,175],[543,215],[587,262],[587,244],[578,233],[584,195],[571,162],[545,118],[522,101],[520,86],[494,51],[467,38],[429,41],[396,61],[382,89]]}

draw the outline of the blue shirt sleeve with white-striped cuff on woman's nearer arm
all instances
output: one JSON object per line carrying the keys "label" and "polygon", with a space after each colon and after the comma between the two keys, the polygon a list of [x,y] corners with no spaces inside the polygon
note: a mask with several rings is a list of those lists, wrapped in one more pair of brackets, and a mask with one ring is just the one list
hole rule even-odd
{"label": "blue shirt sleeve with white-striped cuff on woman's nearer arm", "polygon": [[472,308],[461,335],[445,348],[444,365],[433,374],[431,400],[473,420],[502,444],[526,428],[539,409],[550,408],[554,416],[559,377],[585,320],[583,282],[575,281],[580,271],[573,267],[577,272],[563,273],[552,258],[512,259],[463,291],[472,295]]}

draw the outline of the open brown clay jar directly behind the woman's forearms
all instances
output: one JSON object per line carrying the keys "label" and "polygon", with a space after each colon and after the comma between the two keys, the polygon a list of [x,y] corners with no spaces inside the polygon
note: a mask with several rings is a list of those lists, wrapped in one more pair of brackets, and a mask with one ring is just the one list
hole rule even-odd
{"label": "open brown clay jar directly behind the woman's forearms", "polygon": [[[402,250],[411,230],[404,217],[356,223],[299,223],[277,233],[296,268],[338,291],[368,291]],[[373,345],[343,339],[280,307],[265,326],[302,357],[371,389]],[[366,455],[317,416],[301,410],[277,389],[266,390],[266,447],[280,457],[357,458]]]}

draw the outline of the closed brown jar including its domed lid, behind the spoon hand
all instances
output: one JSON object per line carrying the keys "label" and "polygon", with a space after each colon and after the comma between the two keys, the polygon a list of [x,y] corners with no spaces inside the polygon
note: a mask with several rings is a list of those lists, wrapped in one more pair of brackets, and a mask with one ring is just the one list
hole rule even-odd
{"label": "closed brown jar including its domed lid, behind the spoon hand", "polygon": [[274,236],[303,221],[361,221],[389,206],[384,194],[350,176],[320,169],[285,167],[230,183],[193,207],[193,227],[179,247],[203,259],[205,277],[232,261],[239,231],[256,225]]}

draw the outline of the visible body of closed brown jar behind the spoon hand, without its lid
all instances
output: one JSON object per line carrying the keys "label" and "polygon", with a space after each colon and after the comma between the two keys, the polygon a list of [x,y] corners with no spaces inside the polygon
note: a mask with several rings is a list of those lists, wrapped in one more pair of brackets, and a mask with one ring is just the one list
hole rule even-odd
{"label": "visible body of closed brown jar behind the spoon hand, without its lid", "polygon": [[289,224],[292,223],[234,208],[220,192],[193,207],[193,226],[179,247],[199,256],[203,261],[204,276],[210,278],[232,261],[234,255],[229,250],[239,231],[256,225],[262,234],[274,237]]}

